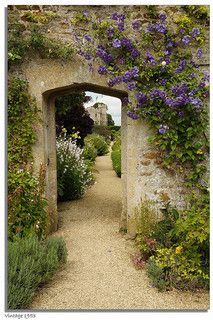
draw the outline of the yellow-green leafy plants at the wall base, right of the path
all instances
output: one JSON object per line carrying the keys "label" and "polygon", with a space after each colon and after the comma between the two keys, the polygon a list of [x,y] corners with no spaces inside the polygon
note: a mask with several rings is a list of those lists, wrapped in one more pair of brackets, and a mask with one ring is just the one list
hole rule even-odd
{"label": "yellow-green leafy plants at the wall base, right of the path", "polygon": [[165,218],[151,232],[158,244],[150,258],[151,270],[154,266],[160,274],[155,278],[148,266],[154,285],[161,288],[163,274],[165,288],[209,287],[209,212],[208,191],[193,191],[188,209],[182,212],[166,208]]}

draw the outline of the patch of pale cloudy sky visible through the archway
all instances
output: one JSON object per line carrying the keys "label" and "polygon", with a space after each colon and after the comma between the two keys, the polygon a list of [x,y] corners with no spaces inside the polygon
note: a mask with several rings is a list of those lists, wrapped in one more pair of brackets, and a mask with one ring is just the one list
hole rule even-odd
{"label": "patch of pale cloudy sky visible through the archway", "polygon": [[106,96],[103,94],[86,91],[86,95],[92,97],[92,100],[88,103],[85,103],[85,108],[94,105],[96,102],[103,102],[107,105],[108,111],[112,115],[112,119],[115,122],[115,125],[121,125],[121,100],[118,98]]}

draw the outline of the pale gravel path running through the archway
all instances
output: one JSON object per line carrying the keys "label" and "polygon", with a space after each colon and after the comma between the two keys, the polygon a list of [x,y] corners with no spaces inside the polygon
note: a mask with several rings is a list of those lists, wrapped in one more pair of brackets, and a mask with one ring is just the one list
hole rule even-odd
{"label": "pale gravel path running through the archway", "polygon": [[110,156],[96,161],[97,183],[86,196],[60,205],[68,262],[35,298],[35,310],[206,310],[202,292],[160,293],[144,270],[136,270],[131,240],[119,230],[121,179],[111,169]]}

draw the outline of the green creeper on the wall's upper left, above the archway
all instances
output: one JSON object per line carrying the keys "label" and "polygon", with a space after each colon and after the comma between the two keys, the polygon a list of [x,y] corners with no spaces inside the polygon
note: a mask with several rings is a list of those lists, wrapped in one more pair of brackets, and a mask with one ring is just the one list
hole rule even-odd
{"label": "green creeper on the wall's upper left, above the archway", "polygon": [[[29,22],[26,27],[18,12],[8,13],[8,63],[9,67],[20,63],[27,55],[39,54],[41,58],[71,59],[74,49],[70,43],[63,43],[46,36],[47,23],[53,19],[54,13],[35,13],[28,11],[25,19]],[[43,22],[42,22],[43,21]],[[45,23],[40,26],[38,22]]]}

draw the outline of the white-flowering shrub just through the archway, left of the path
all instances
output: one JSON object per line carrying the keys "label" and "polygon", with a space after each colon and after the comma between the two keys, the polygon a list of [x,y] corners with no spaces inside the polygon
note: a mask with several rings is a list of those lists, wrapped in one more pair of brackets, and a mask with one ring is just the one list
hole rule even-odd
{"label": "white-flowering shrub just through the archway, left of the path", "polygon": [[56,141],[56,148],[58,200],[79,199],[93,181],[83,159],[83,150],[71,138],[61,137]]}

